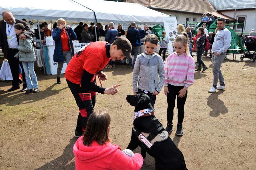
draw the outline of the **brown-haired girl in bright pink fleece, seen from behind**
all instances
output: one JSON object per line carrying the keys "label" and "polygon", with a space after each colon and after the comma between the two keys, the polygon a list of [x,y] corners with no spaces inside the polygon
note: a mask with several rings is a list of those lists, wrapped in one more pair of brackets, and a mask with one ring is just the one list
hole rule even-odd
{"label": "brown-haired girl in bright pink fleece, seen from behind", "polygon": [[83,136],[77,139],[73,151],[76,170],[80,169],[140,169],[143,158],[139,153],[122,152],[109,139],[110,116],[106,111],[93,112]]}

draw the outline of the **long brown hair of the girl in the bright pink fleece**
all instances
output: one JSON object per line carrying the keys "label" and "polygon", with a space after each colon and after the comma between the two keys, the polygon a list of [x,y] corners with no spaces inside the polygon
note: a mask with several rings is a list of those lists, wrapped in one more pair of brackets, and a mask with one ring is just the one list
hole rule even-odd
{"label": "long brown hair of the girl in the bright pink fleece", "polygon": [[108,136],[108,127],[110,123],[111,119],[108,112],[101,110],[93,112],[88,119],[83,134],[84,145],[91,145],[93,140],[95,140],[99,145],[110,142],[110,138]]}

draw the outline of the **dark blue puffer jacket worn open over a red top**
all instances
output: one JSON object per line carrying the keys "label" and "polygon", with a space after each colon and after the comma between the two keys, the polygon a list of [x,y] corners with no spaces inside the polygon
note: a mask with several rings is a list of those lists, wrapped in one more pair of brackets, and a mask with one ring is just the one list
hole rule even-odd
{"label": "dark blue puffer jacket worn open over a red top", "polygon": [[[69,29],[66,29],[66,33],[68,34],[68,38],[69,38],[70,50],[72,52],[72,55],[74,55],[74,48],[73,48],[72,40],[76,40],[76,33],[72,30],[71,27]],[[53,61],[54,62],[64,62],[60,34],[61,34],[61,29],[59,29],[59,28],[55,28],[52,31],[52,38],[55,41],[55,48],[54,48],[54,53],[53,53]]]}

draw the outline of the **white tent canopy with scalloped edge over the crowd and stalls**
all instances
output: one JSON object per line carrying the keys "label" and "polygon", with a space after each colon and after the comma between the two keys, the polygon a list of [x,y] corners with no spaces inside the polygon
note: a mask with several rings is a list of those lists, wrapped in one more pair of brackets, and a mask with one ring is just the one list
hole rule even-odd
{"label": "white tent canopy with scalloped edge over the crowd and stalls", "polygon": [[[85,6],[85,7],[84,7]],[[87,8],[86,8],[87,7]],[[89,9],[88,9],[89,8]],[[140,4],[121,3],[100,0],[26,0],[21,3],[18,0],[2,1],[0,12],[11,11],[15,18],[27,18],[29,20],[56,21],[58,18],[64,18],[66,22],[78,23],[97,22],[102,24],[114,22],[115,24],[130,24],[135,21],[136,24],[162,24],[163,17],[169,15],[151,10]],[[0,16],[2,16],[0,14]]]}

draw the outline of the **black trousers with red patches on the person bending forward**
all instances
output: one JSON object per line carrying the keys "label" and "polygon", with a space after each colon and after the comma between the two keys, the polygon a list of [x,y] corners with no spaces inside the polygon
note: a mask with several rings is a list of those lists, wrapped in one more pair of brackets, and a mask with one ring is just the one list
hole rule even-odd
{"label": "black trousers with red patches on the person bending forward", "polygon": [[79,108],[76,130],[78,132],[83,132],[85,130],[88,117],[92,114],[94,105],[96,103],[96,92],[83,90],[80,87],[80,84],[72,83],[67,79],[66,81],[71,93],[75,97],[76,104]]}

